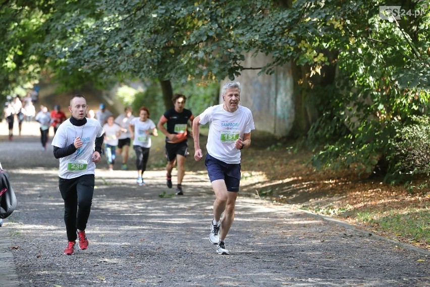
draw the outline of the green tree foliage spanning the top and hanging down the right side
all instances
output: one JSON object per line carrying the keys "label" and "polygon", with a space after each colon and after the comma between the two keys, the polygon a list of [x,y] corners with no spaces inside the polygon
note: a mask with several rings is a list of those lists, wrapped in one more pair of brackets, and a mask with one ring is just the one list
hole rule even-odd
{"label": "green tree foliage spanning the top and hanging down the right side", "polygon": [[[0,85],[35,74],[68,87],[221,80],[292,61],[296,99],[319,109],[307,134],[314,165],[377,166],[388,179],[398,174],[396,126],[426,112],[430,86],[428,4],[390,4],[404,10],[397,19],[366,0],[4,1]],[[272,58],[245,67],[247,53]]]}

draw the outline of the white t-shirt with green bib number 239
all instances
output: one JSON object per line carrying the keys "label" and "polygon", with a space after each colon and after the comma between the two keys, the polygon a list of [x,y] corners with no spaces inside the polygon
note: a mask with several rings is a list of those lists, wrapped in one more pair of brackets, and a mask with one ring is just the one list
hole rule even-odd
{"label": "white t-shirt with green bib number 239", "polygon": [[73,154],[60,158],[59,176],[61,178],[75,178],[84,174],[95,174],[95,163],[92,161],[94,142],[96,137],[104,133],[100,123],[95,119],[88,119],[83,126],[74,126],[70,119],[64,121],[52,139],[52,146],[65,148],[70,146],[75,138],[80,136],[82,147]]}

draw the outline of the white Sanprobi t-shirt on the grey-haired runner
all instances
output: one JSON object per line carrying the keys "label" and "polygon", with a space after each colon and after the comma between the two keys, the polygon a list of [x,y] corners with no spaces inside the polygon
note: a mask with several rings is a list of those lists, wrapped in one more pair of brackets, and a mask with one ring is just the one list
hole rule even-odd
{"label": "white Sanprobi t-shirt on the grey-haired runner", "polygon": [[206,150],[212,157],[228,164],[240,163],[240,150],[236,140],[244,133],[255,129],[251,111],[243,106],[233,113],[227,112],[223,104],[207,108],[200,114],[200,124],[209,122]]}

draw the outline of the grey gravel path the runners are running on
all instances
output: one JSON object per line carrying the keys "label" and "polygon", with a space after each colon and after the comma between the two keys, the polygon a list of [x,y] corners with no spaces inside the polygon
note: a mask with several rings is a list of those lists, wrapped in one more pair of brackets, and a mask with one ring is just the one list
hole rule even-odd
{"label": "grey gravel path the runners are running on", "polygon": [[97,169],[89,248],[65,256],[57,160],[38,137],[5,138],[19,206],[0,237],[8,228],[19,286],[430,286],[428,254],[259,199],[238,198],[231,254],[218,255],[204,166],[186,174],[182,197],[169,196],[163,170],[138,186],[134,171]]}

